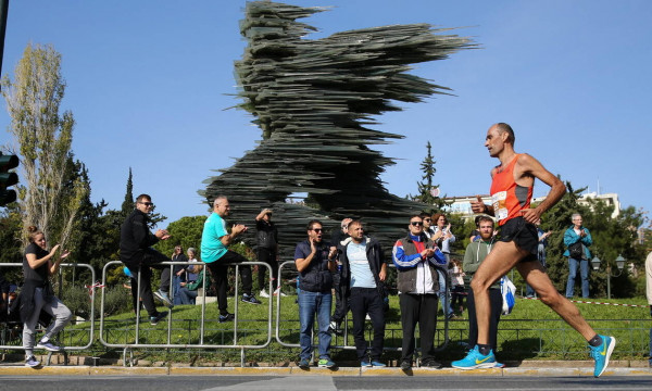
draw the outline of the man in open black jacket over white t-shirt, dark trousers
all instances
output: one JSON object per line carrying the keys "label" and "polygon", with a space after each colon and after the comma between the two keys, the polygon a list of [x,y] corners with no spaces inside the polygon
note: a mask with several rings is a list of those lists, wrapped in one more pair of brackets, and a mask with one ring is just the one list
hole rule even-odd
{"label": "man in open black jacket over white t-shirt, dark trousers", "polygon": [[[361,367],[384,367],[380,362],[385,341],[385,279],[387,264],[376,239],[364,236],[360,220],[349,223],[349,239],[338,243],[339,261],[342,265],[341,289],[349,300],[353,315],[353,339]],[[369,315],[374,326],[372,360],[364,340],[364,321]]]}

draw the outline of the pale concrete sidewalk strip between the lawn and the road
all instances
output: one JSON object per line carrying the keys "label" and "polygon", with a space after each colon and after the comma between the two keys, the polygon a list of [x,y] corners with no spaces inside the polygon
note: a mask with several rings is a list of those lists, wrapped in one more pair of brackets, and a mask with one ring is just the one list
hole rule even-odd
{"label": "pale concrete sidewalk strip between the lawn and the road", "polygon": [[[509,364],[507,364],[509,365]],[[516,365],[516,364],[514,364]],[[14,375],[63,375],[63,376],[163,376],[163,375],[192,375],[192,376],[225,376],[225,375],[261,375],[261,376],[576,376],[592,377],[592,361],[527,361],[517,366],[505,368],[461,370],[455,368],[412,368],[403,371],[396,367],[360,368],[340,367],[337,369],[311,367],[301,369],[298,366],[286,367],[190,367],[187,365],[172,366],[89,366],[89,365],[52,365],[39,368],[29,368],[23,364],[0,364],[0,376]],[[650,376],[652,368],[647,361],[615,361],[610,363],[604,376]]]}

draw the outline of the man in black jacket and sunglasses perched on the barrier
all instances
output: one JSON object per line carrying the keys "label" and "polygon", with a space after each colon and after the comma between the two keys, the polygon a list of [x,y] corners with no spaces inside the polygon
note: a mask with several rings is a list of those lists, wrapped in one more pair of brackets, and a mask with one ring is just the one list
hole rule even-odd
{"label": "man in black jacket and sunglasses perched on the barrier", "polygon": [[120,260],[129,268],[135,281],[138,281],[138,274],[140,274],[140,285],[138,286],[140,299],[150,316],[151,325],[156,325],[167,315],[167,312],[158,312],[154,306],[150,266],[162,269],[161,289],[156,292],[156,297],[168,307],[172,307],[173,304],[165,289],[165,287],[167,290],[170,289],[170,267],[160,265],[161,262],[170,261],[170,258],[150,248],[159,240],[170,239],[170,234],[165,229],[159,229],[155,234],[150,232],[147,223],[153,209],[151,197],[138,195],[136,209],[125,219],[120,230]]}

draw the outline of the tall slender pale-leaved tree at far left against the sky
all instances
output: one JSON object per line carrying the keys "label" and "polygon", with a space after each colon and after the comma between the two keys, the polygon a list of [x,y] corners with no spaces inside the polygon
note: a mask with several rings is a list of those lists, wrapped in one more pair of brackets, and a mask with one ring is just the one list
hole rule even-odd
{"label": "tall slender pale-leaved tree at far left against the sky", "polygon": [[28,45],[14,77],[2,79],[2,96],[11,116],[9,131],[21,155],[25,186],[18,188],[18,203],[24,226],[36,225],[50,243],[65,247],[88,187],[71,177],[75,121],[70,111],[60,114],[65,91],[61,54],[51,46]]}

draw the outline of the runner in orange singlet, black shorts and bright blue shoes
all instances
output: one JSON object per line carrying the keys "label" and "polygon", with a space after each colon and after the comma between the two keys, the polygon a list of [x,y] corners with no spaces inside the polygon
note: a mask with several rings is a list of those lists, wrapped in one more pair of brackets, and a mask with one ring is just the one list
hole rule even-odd
{"label": "runner in orange singlet, black shorts and bright blue shoes", "polygon": [[[589,342],[595,361],[593,376],[599,377],[609,365],[616,339],[599,336],[580,315],[577,307],[561,295],[536,261],[538,234],[535,227],[541,214],[552,207],[566,192],[564,184],[535,157],[514,152],[514,130],[507,124],[492,125],[487,130],[485,147],[500,165],[491,169],[492,204],[486,205],[478,195],[472,202],[474,213],[486,213],[499,218],[501,238],[497,242],[471,281],[475,297],[478,339],[466,357],[452,363],[460,369],[489,368],[496,365],[496,356],[489,345],[491,302],[489,287],[516,267],[525,281],[535,289],[541,302],[550,306]],[[530,200],[535,178],[550,186],[543,202],[531,209]]]}

